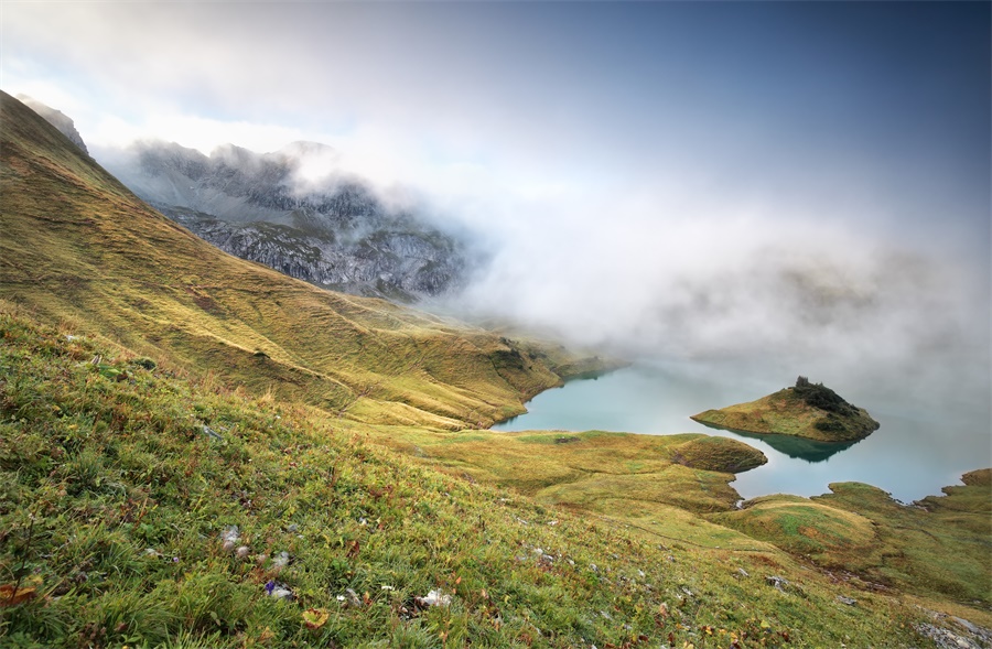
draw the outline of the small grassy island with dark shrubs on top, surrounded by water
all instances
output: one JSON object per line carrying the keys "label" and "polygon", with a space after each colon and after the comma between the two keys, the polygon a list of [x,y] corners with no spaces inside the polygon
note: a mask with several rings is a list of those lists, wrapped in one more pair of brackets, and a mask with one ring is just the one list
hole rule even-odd
{"label": "small grassy island with dark shrubs on top, surrounded by water", "polygon": [[746,433],[796,435],[820,442],[853,442],[878,429],[866,410],[848,403],[823,383],[799,377],[796,386],[757,401],[707,410],[690,419]]}

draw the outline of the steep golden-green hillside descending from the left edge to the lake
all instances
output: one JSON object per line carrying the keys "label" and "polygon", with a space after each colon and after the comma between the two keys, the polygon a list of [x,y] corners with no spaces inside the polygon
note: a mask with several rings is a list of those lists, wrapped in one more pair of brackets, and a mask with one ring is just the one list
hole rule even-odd
{"label": "steep golden-green hillside descending from the left edge to the lake", "polygon": [[367,421],[461,428],[522,412],[573,359],[328,293],[227,256],[2,97],[0,296],[229,385]]}

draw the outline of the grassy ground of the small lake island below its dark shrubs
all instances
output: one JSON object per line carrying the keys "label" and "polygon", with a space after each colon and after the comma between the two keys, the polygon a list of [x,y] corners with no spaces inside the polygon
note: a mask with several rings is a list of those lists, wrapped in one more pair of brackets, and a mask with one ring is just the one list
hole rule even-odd
{"label": "grassy ground of the small lake island below its dark shrubs", "polygon": [[[820,442],[850,442],[866,437],[878,428],[864,409],[855,415],[837,417],[807,404],[792,388],[779,390],[747,403],[736,403],[720,410],[707,410],[692,419],[708,425],[744,431],[797,435]],[[817,424],[831,422],[835,430],[820,430]]]}

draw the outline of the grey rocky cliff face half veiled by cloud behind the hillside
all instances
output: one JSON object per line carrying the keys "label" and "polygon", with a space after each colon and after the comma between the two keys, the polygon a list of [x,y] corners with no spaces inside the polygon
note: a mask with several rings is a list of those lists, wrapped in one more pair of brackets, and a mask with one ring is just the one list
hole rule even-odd
{"label": "grey rocky cliff face half veiled by cloud behind the hillside", "polygon": [[209,156],[142,142],[105,166],[222,250],[294,278],[405,302],[459,286],[466,253],[457,239],[387,206],[358,179],[304,173],[333,155],[312,142],[265,154],[227,145]]}

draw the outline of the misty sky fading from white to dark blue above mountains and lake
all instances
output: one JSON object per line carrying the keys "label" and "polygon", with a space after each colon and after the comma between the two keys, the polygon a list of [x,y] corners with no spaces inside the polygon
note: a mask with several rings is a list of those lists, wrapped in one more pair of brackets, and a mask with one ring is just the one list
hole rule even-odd
{"label": "misty sky fading from white to dark blue above mountains and lake", "polygon": [[140,138],[330,144],[472,232],[477,317],[988,386],[990,12],[6,0],[0,87],[98,160]]}

